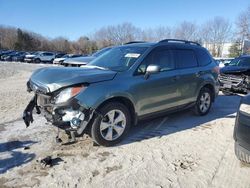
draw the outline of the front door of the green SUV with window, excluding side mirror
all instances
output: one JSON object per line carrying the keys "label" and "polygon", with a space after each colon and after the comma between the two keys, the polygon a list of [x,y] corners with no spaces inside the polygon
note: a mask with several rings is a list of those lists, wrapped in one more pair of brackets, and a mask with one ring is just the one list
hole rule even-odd
{"label": "front door of the green SUV with window, excluding side mirror", "polygon": [[[146,79],[146,68],[151,64],[159,65],[161,70]],[[138,67],[133,80],[135,84],[132,91],[139,116],[178,106],[181,96],[178,92],[179,76],[171,49],[155,48]]]}

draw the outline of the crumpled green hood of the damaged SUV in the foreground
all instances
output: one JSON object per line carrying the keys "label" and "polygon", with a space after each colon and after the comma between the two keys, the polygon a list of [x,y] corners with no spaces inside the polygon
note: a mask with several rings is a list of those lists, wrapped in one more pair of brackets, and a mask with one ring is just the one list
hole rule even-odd
{"label": "crumpled green hood of the damaged SUV in the foreground", "polygon": [[46,88],[46,92],[54,92],[62,87],[81,83],[95,83],[112,80],[116,72],[95,67],[67,68],[47,67],[36,70],[30,82],[38,87]]}

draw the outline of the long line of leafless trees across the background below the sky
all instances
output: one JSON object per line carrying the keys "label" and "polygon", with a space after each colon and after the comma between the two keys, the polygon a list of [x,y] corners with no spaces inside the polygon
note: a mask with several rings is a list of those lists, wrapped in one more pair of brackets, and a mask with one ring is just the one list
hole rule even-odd
{"label": "long line of leafless trees across the background below the sky", "polygon": [[214,17],[203,24],[184,21],[174,27],[159,26],[142,29],[132,23],[108,25],[91,36],[81,36],[76,41],[64,37],[46,38],[40,34],[19,28],[0,25],[0,49],[24,51],[58,51],[89,54],[106,46],[120,45],[130,41],[159,41],[166,38],[184,39],[202,43],[213,56],[220,56],[226,42],[234,42],[230,55],[242,51],[243,41],[250,40],[250,6],[231,23],[223,17]]}

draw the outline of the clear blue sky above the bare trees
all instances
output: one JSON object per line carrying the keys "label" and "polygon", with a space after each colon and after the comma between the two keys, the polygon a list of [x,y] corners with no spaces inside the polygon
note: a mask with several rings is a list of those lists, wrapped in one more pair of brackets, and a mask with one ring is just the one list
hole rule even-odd
{"label": "clear blue sky above the bare trees", "polygon": [[124,22],[144,29],[222,16],[235,23],[248,6],[249,0],[0,0],[0,25],[76,40]]}

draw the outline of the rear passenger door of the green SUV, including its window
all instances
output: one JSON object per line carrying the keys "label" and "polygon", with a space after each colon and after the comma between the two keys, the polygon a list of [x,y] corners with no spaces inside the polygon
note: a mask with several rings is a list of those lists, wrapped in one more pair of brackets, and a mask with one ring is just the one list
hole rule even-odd
{"label": "rear passenger door of the green SUV, including its window", "polygon": [[187,104],[196,100],[196,91],[201,81],[198,60],[195,51],[191,48],[175,49],[174,54],[179,70],[180,104]]}

